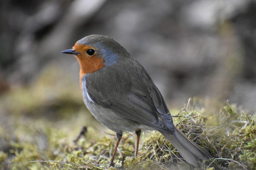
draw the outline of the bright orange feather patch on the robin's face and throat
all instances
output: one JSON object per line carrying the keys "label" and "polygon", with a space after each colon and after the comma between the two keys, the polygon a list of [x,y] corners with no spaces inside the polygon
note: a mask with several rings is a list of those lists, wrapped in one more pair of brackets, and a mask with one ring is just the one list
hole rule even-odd
{"label": "bright orange feather patch on the robin's face and throat", "polygon": [[[97,51],[94,47],[90,45],[79,45],[75,44],[73,49],[80,53],[80,55],[75,55],[80,64],[80,88],[81,88],[81,79],[87,73],[93,73],[99,69],[104,68],[104,59],[97,56]],[[96,52],[93,55],[88,55],[87,50],[94,49]]]}

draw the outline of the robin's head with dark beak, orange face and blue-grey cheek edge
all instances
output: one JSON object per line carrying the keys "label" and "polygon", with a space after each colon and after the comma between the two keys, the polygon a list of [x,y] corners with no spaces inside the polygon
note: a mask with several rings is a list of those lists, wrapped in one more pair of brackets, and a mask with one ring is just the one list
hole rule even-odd
{"label": "robin's head with dark beak, orange face and blue-grey cheek edge", "polygon": [[62,53],[73,54],[80,64],[80,77],[104,69],[120,58],[130,57],[126,49],[108,36],[89,35],[78,40],[72,49]]}

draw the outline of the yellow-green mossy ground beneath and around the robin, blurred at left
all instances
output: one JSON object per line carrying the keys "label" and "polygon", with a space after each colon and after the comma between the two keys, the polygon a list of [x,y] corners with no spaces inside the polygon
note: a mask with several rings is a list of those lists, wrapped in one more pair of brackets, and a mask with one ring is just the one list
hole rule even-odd
{"label": "yellow-green mossy ground beneath and around the robin, blurred at left", "polygon": [[[31,87],[1,95],[0,169],[256,169],[253,114],[209,99],[189,100],[180,111],[171,112],[175,125],[213,159],[191,166],[159,132],[146,131],[140,137],[138,157],[136,135],[124,133],[115,167],[110,168],[115,133],[86,110],[79,87],[74,85],[72,94],[77,96],[71,96],[66,86],[73,85],[57,84],[52,73],[49,69]],[[87,131],[74,144],[82,126]]]}

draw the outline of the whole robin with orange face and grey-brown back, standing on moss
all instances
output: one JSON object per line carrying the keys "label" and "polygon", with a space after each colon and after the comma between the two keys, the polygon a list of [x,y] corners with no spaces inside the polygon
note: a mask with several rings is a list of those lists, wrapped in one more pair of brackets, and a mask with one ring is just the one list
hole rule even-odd
{"label": "whole robin with orange face and grey-brown back, standing on moss", "polygon": [[114,157],[123,132],[137,135],[136,156],[141,130],[159,131],[190,164],[212,156],[173,124],[173,119],[159,89],[143,66],[116,40],[105,35],[88,35],[72,49],[80,65],[80,88],[91,114],[116,133]]}

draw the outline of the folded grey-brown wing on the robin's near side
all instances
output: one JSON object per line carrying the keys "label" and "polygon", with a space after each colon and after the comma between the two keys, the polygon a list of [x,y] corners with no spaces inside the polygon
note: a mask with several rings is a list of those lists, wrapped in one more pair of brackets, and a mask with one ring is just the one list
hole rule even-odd
{"label": "folded grey-brown wing on the robin's near side", "polygon": [[164,132],[173,132],[173,120],[159,90],[154,86],[148,89],[153,103],[143,95],[129,93],[120,100],[112,102],[103,97],[95,88],[87,88],[91,99],[116,114]]}

